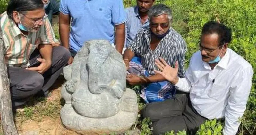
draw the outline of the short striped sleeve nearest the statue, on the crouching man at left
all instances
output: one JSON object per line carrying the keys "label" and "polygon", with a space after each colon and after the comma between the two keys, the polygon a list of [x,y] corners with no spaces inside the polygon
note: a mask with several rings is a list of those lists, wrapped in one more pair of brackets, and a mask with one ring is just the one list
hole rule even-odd
{"label": "short striped sleeve nearest the statue, on the crouching man at left", "polygon": [[56,46],[56,44],[60,44],[55,38],[54,31],[47,17],[40,31],[40,44],[52,44],[54,46]]}

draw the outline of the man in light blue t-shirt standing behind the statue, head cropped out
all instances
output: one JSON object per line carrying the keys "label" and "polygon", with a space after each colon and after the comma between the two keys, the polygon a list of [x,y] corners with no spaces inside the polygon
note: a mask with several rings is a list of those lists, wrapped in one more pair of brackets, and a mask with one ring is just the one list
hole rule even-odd
{"label": "man in light blue t-shirt standing behind the statue, head cropped out", "polygon": [[92,39],[108,40],[122,53],[125,21],[126,13],[122,0],[60,1],[60,39],[73,57],[85,41]]}

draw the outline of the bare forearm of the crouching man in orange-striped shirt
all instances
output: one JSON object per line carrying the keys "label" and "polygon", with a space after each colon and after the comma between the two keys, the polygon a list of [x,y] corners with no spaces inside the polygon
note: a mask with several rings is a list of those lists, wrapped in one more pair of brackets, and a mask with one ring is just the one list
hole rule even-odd
{"label": "bare forearm of the crouching man in orange-striped shirt", "polygon": [[52,63],[52,45],[51,44],[39,45],[38,49],[42,58]]}

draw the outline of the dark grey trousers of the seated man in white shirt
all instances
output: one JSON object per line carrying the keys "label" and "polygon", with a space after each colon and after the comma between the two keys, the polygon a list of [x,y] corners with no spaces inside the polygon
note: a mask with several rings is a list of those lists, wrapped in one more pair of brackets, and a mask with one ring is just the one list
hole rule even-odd
{"label": "dark grey trousers of the seated man in white shirt", "polygon": [[207,120],[192,107],[189,94],[176,94],[174,99],[150,103],[143,109],[143,117],[152,121],[154,135],[183,129],[195,134]]}

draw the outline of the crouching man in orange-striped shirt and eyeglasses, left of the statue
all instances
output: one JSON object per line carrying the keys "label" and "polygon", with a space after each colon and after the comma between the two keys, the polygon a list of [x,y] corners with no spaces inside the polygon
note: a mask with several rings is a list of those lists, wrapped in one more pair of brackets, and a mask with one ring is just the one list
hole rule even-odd
{"label": "crouching man in orange-striped shirt and eyeglasses, left of the statue", "polygon": [[55,39],[42,0],[11,0],[0,20],[13,107],[47,96],[71,56]]}

